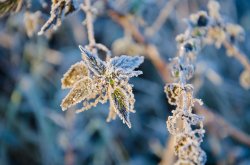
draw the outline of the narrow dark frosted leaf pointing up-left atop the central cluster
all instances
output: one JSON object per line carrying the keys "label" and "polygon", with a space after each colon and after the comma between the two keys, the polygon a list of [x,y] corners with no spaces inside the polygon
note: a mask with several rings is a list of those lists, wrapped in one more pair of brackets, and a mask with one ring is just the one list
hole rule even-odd
{"label": "narrow dark frosted leaf pointing up-left atop the central cluster", "polygon": [[87,64],[88,68],[96,75],[103,75],[106,70],[105,62],[103,62],[97,55],[92,54],[90,51],[83,48],[82,46],[79,46],[79,49],[82,52],[82,58]]}

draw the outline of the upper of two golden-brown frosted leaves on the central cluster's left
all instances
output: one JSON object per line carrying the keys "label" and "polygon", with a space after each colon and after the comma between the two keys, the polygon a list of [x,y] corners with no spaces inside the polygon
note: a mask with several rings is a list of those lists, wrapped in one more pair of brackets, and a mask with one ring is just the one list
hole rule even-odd
{"label": "upper of two golden-brown frosted leaves on the central cluster's left", "polygon": [[62,89],[71,88],[77,81],[88,75],[88,68],[84,62],[77,62],[76,64],[72,65],[70,69],[64,74],[61,80]]}

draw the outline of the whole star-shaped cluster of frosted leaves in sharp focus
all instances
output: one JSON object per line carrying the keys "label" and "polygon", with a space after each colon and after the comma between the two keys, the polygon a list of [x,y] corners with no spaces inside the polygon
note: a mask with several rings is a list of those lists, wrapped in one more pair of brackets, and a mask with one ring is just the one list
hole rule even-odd
{"label": "whole star-shaped cluster of frosted leaves in sharp focus", "polygon": [[90,109],[99,102],[110,101],[110,112],[107,121],[118,115],[123,123],[131,128],[129,112],[134,110],[134,94],[129,79],[142,74],[135,71],[143,57],[122,55],[107,62],[102,61],[96,54],[79,46],[83,61],[74,64],[62,78],[62,88],[71,88],[63,99],[63,110],[83,102],[83,108],[77,112]]}

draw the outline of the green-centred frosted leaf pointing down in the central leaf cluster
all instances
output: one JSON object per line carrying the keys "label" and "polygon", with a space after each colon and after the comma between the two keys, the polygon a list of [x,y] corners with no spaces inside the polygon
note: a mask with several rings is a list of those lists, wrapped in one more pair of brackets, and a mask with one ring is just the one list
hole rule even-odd
{"label": "green-centred frosted leaf pointing down in the central leaf cluster", "polygon": [[126,123],[129,128],[131,128],[131,123],[129,120],[129,103],[126,97],[126,93],[123,89],[117,87],[111,93],[110,98],[111,106],[114,107],[115,112],[121,118],[123,123]]}

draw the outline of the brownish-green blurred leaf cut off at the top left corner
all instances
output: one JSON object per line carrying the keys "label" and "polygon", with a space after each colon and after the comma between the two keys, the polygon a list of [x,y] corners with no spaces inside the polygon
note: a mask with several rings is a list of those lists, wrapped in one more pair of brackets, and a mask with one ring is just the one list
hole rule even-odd
{"label": "brownish-green blurred leaf cut off at the top left corner", "polygon": [[0,17],[18,12],[22,7],[22,0],[6,0],[0,1]]}

